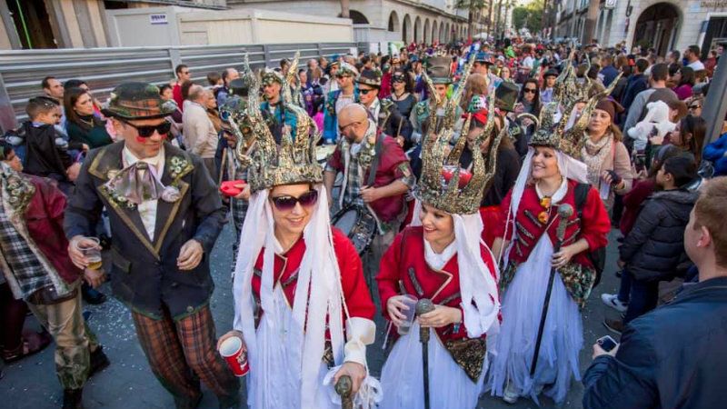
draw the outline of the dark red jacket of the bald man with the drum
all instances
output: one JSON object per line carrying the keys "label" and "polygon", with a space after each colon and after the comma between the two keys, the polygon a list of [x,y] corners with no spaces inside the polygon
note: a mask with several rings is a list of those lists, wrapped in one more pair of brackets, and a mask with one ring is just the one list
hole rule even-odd
{"label": "dark red jacket of the bald man with the drum", "polygon": [[[378,137],[383,138],[383,146],[379,167],[376,169],[376,176],[373,179],[373,187],[390,185],[395,180],[411,176],[412,168],[409,165],[409,159],[403,153],[402,147],[390,136],[380,133]],[[340,146],[336,147],[334,155],[331,155],[328,160],[328,165],[337,172],[344,172],[344,155]],[[370,168],[364,169],[364,184],[369,178],[369,171]],[[371,205],[373,212],[376,213],[379,219],[383,222],[391,222],[400,214],[403,214],[404,195],[383,197],[369,205]]]}

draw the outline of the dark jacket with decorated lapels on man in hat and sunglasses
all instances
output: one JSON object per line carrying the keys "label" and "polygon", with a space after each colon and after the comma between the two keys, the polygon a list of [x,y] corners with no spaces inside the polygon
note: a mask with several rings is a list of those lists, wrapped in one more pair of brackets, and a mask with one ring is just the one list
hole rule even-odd
{"label": "dark jacket with decorated lapels on man in hat and sunglasses", "polygon": [[[175,202],[158,201],[154,238],[148,237],[141,216],[114,200],[103,188],[109,175],[123,168],[124,142],[91,151],[76,180],[65,212],[65,235],[94,235],[101,211],[108,209],[112,244],[111,282],[114,294],[134,312],[152,318],[163,316],[163,306],[174,319],[195,313],[209,302],[214,289],[209,254],[225,223],[225,210],[214,181],[196,155],[164,144],[162,184],[176,186]],[[179,271],[176,259],[182,245],[194,239],[202,244],[204,258],[192,271]]]}

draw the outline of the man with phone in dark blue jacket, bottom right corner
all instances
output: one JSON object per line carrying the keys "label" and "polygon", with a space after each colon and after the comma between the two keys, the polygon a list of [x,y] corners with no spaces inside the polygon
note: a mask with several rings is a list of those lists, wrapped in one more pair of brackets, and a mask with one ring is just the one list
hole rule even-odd
{"label": "man with phone in dark blue jacket, bottom right corner", "polygon": [[627,324],[611,351],[593,344],[583,408],[719,408],[727,402],[727,177],[700,190],[683,245],[699,270],[670,304]]}

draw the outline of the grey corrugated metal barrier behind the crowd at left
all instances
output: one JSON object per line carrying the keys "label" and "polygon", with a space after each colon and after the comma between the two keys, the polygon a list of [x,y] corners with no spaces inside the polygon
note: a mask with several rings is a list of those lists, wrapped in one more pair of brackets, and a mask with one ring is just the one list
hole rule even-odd
{"label": "grey corrugated metal barrier behind the crowd at left", "polygon": [[53,75],[60,81],[83,79],[94,96],[105,100],[116,85],[143,81],[168,84],[174,67],[189,65],[192,80],[206,84],[208,72],[242,69],[243,55],[253,69],[278,66],[283,58],[301,53],[301,63],[320,55],[346,54],[354,43],[280,45],[193,45],[169,47],[118,47],[89,49],[0,51],[0,131],[15,128],[24,120],[29,98],[42,95],[41,80]]}

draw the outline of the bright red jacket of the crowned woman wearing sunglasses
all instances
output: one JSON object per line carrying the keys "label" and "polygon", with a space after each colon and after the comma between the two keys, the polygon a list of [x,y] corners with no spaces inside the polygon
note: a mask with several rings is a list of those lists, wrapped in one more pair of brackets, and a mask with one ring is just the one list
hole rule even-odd
{"label": "bright red jacket of the crowned woman wearing sunglasses", "polygon": [[[356,253],[354,244],[336,228],[331,229],[334,235],[334,251],[338,260],[338,268],[341,270],[341,285],[344,289],[344,300],[348,307],[348,313],[352,317],[362,317],[373,320],[373,314],[376,314],[376,307],[373,305],[369,289],[364,280],[364,268],[361,259]],[[262,277],[260,272],[263,271],[263,254],[264,248],[260,251],[255,262],[255,272],[253,274],[253,294],[255,302],[260,308],[260,285]],[[305,242],[303,236],[293,244],[293,247],[284,255],[275,254],[275,262],[273,268],[274,284],[283,285],[283,292],[288,301],[288,305],[293,306],[295,299],[295,289],[298,284],[298,269],[300,268],[303,256],[305,254]],[[256,317],[259,319],[259,316]]]}

